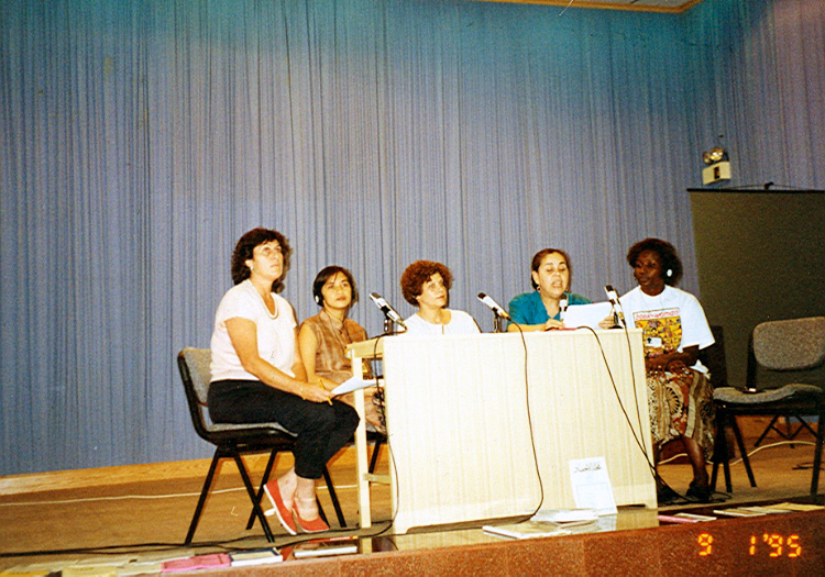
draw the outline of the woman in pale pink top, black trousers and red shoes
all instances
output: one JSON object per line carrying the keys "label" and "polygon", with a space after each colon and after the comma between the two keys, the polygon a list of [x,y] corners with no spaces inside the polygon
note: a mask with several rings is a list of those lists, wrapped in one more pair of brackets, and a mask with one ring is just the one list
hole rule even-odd
{"label": "woman in pale pink top, black trousers and red shoes", "polygon": [[[232,280],[215,315],[209,415],[216,423],[277,422],[296,435],[295,467],[265,486],[290,534],[326,531],[316,479],[351,439],[358,413],[307,379],[295,312],[278,296],[292,248],[277,231],[253,229],[232,254]],[[296,525],[297,522],[297,525]]]}

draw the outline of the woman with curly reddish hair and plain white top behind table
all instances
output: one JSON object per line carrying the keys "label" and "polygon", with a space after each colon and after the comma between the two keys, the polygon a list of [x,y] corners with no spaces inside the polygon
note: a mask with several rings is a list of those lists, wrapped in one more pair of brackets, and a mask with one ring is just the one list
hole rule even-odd
{"label": "woman with curly reddish hair and plain white top behind table", "polygon": [[452,275],[441,263],[416,260],[402,275],[404,299],[418,307],[418,312],[404,322],[404,334],[473,334],[480,333],[475,320],[464,311],[447,308]]}

